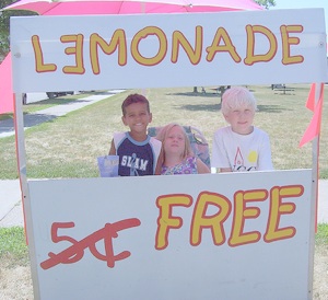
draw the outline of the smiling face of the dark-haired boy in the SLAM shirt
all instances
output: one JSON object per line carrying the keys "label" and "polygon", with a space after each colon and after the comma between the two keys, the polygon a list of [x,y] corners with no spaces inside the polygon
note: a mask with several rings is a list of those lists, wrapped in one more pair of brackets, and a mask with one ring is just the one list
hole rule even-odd
{"label": "smiling face of the dark-haired boy in the SLAM shirt", "polygon": [[126,107],[126,115],[121,119],[132,132],[145,132],[152,114],[148,112],[145,103],[132,103]]}

